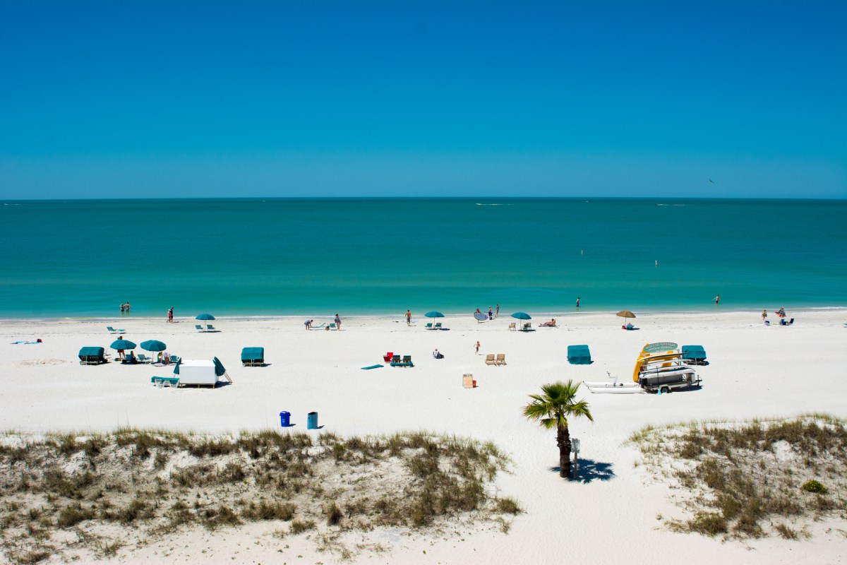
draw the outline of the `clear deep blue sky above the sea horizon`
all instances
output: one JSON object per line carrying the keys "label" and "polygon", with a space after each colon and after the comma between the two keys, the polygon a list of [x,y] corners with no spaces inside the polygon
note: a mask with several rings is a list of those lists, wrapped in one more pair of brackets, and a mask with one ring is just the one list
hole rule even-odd
{"label": "clear deep blue sky above the sea horizon", "polygon": [[847,3],[527,4],[0,0],[0,199],[847,197]]}

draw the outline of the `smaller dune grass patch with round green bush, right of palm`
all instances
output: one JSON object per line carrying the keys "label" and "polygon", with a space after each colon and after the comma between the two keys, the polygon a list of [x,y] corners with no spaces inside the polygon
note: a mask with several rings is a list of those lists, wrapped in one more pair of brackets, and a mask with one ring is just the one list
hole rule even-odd
{"label": "smaller dune grass patch with round green bush, right of palm", "polygon": [[730,538],[806,537],[805,525],[847,518],[847,425],[825,414],[743,423],[646,427],[629,441],[684,496],[669,527]]}

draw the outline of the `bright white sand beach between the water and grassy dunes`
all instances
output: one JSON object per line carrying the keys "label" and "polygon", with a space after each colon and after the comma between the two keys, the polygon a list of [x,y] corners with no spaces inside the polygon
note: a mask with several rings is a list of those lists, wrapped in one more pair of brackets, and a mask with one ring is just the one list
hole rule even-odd
{"label": "bright white sand beach between the water and grassy dunes", "polygon": [[[43,433],[108,431],[118,427],[237,432],[280,429],[291,412],[293,431],[306,431],[317,411],[323,429],[340,435],[432,430],[491,440],[512,458],[497,487],[525,512],[503,534],[494,529],[441,535],[374,530],[384,553],[365,552],[362,563],[679,562],[771,564],[847,562],[847,521],[814,523],[811,539],[725,541],[678,534],[662,527],[681,517],[673,492],[635,467],[639,452],[623,445],[645,424],[692,419],[787,417],[830,413],[847,418],[847,320],[844,309],[795,312],[789,327],[761,324],[757,312],[638,314],[639,330],[621,330],[613,313],[556,316],[556,328],[508,331],[501,316],[478,324],[471,316],[439,321],[449,330],[424,330],[396,318],[344,319],[342,330],[306,331],[302,318],[218,319],[218,333],[198,333],[194,319],[4,321],[0,323],[0,429]],[[775,317],[771,314],[771,318]],[[331,318],[316,319],[316,324]],[[545,321],[536,317],[533,322]],[[233,379],[215,389],[159,389],[154,374],[169,368],[107,363],[80,366],[82,346],[107,347],[125,339],[164,341],[187,359],[219,357]],[[534,324],[535,325],[535,324]],[[14,345],[35,341],[39,345]],[[481,344],[479,355],[474,343]],[[583,480],[560,479],[555,432],[521,415],[528,395],[556,380],[603,380],[606,372],[631,379],[645,343],[673,341],[705,347],[698,368],[703,387],[657,395],[593,395],[584,390],[595,422],[574,419],[581,440]],[[590,365],[567,363],[567,346],[587,344]],[[268,366],[242,368],[241,348],[263,346]],[[436,360],[438,348],[446,358]],[[136,352],[140,352],[136,349]],[[115,352],[108,350],[115,357]],[[386,352],[411,355],[413,368],[374,368]],[[506,354],[507,365],[487,366],[485,354]],[[462,388],[472,373],[479,387]],[[657,519],[661,516],[662,519]],[[359,534],[358,536],[362,536]],[[302,556],[302,557],[301,557]],[[296,536],[274,539],[263,524],[208,532],[194,529],[149,546],[122,550],[115,562],[336,562]],[[108,562],[108,560],[106,560]]]}

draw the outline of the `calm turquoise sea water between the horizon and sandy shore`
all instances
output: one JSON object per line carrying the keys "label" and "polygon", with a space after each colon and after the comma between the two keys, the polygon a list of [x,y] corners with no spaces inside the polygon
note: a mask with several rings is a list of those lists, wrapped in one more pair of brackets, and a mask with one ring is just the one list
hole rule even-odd
{"label": "calm turquoise sea water between the horizon and sandy shore", "polygon": [[845,220],[847,201],[6,201],[0,317],[844,307]]}

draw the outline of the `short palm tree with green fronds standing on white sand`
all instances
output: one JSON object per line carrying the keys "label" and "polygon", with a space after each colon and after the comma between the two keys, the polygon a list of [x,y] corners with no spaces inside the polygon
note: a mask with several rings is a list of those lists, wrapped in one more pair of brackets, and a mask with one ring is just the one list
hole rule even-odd
{"label": "short palm tree with green fronds standing on white sand", "polygon": [[584,416],[594,422],[588,402],[574,402],[579,383],[553,383],[541,386],[540,395],[529,395],[533,402],[523,407],[523,415],[530,420],[538,420],[546,429],[556,428],[556,445],[559,446],[559,476],[571,474],[571,434],[567,430],[568,416]]}

